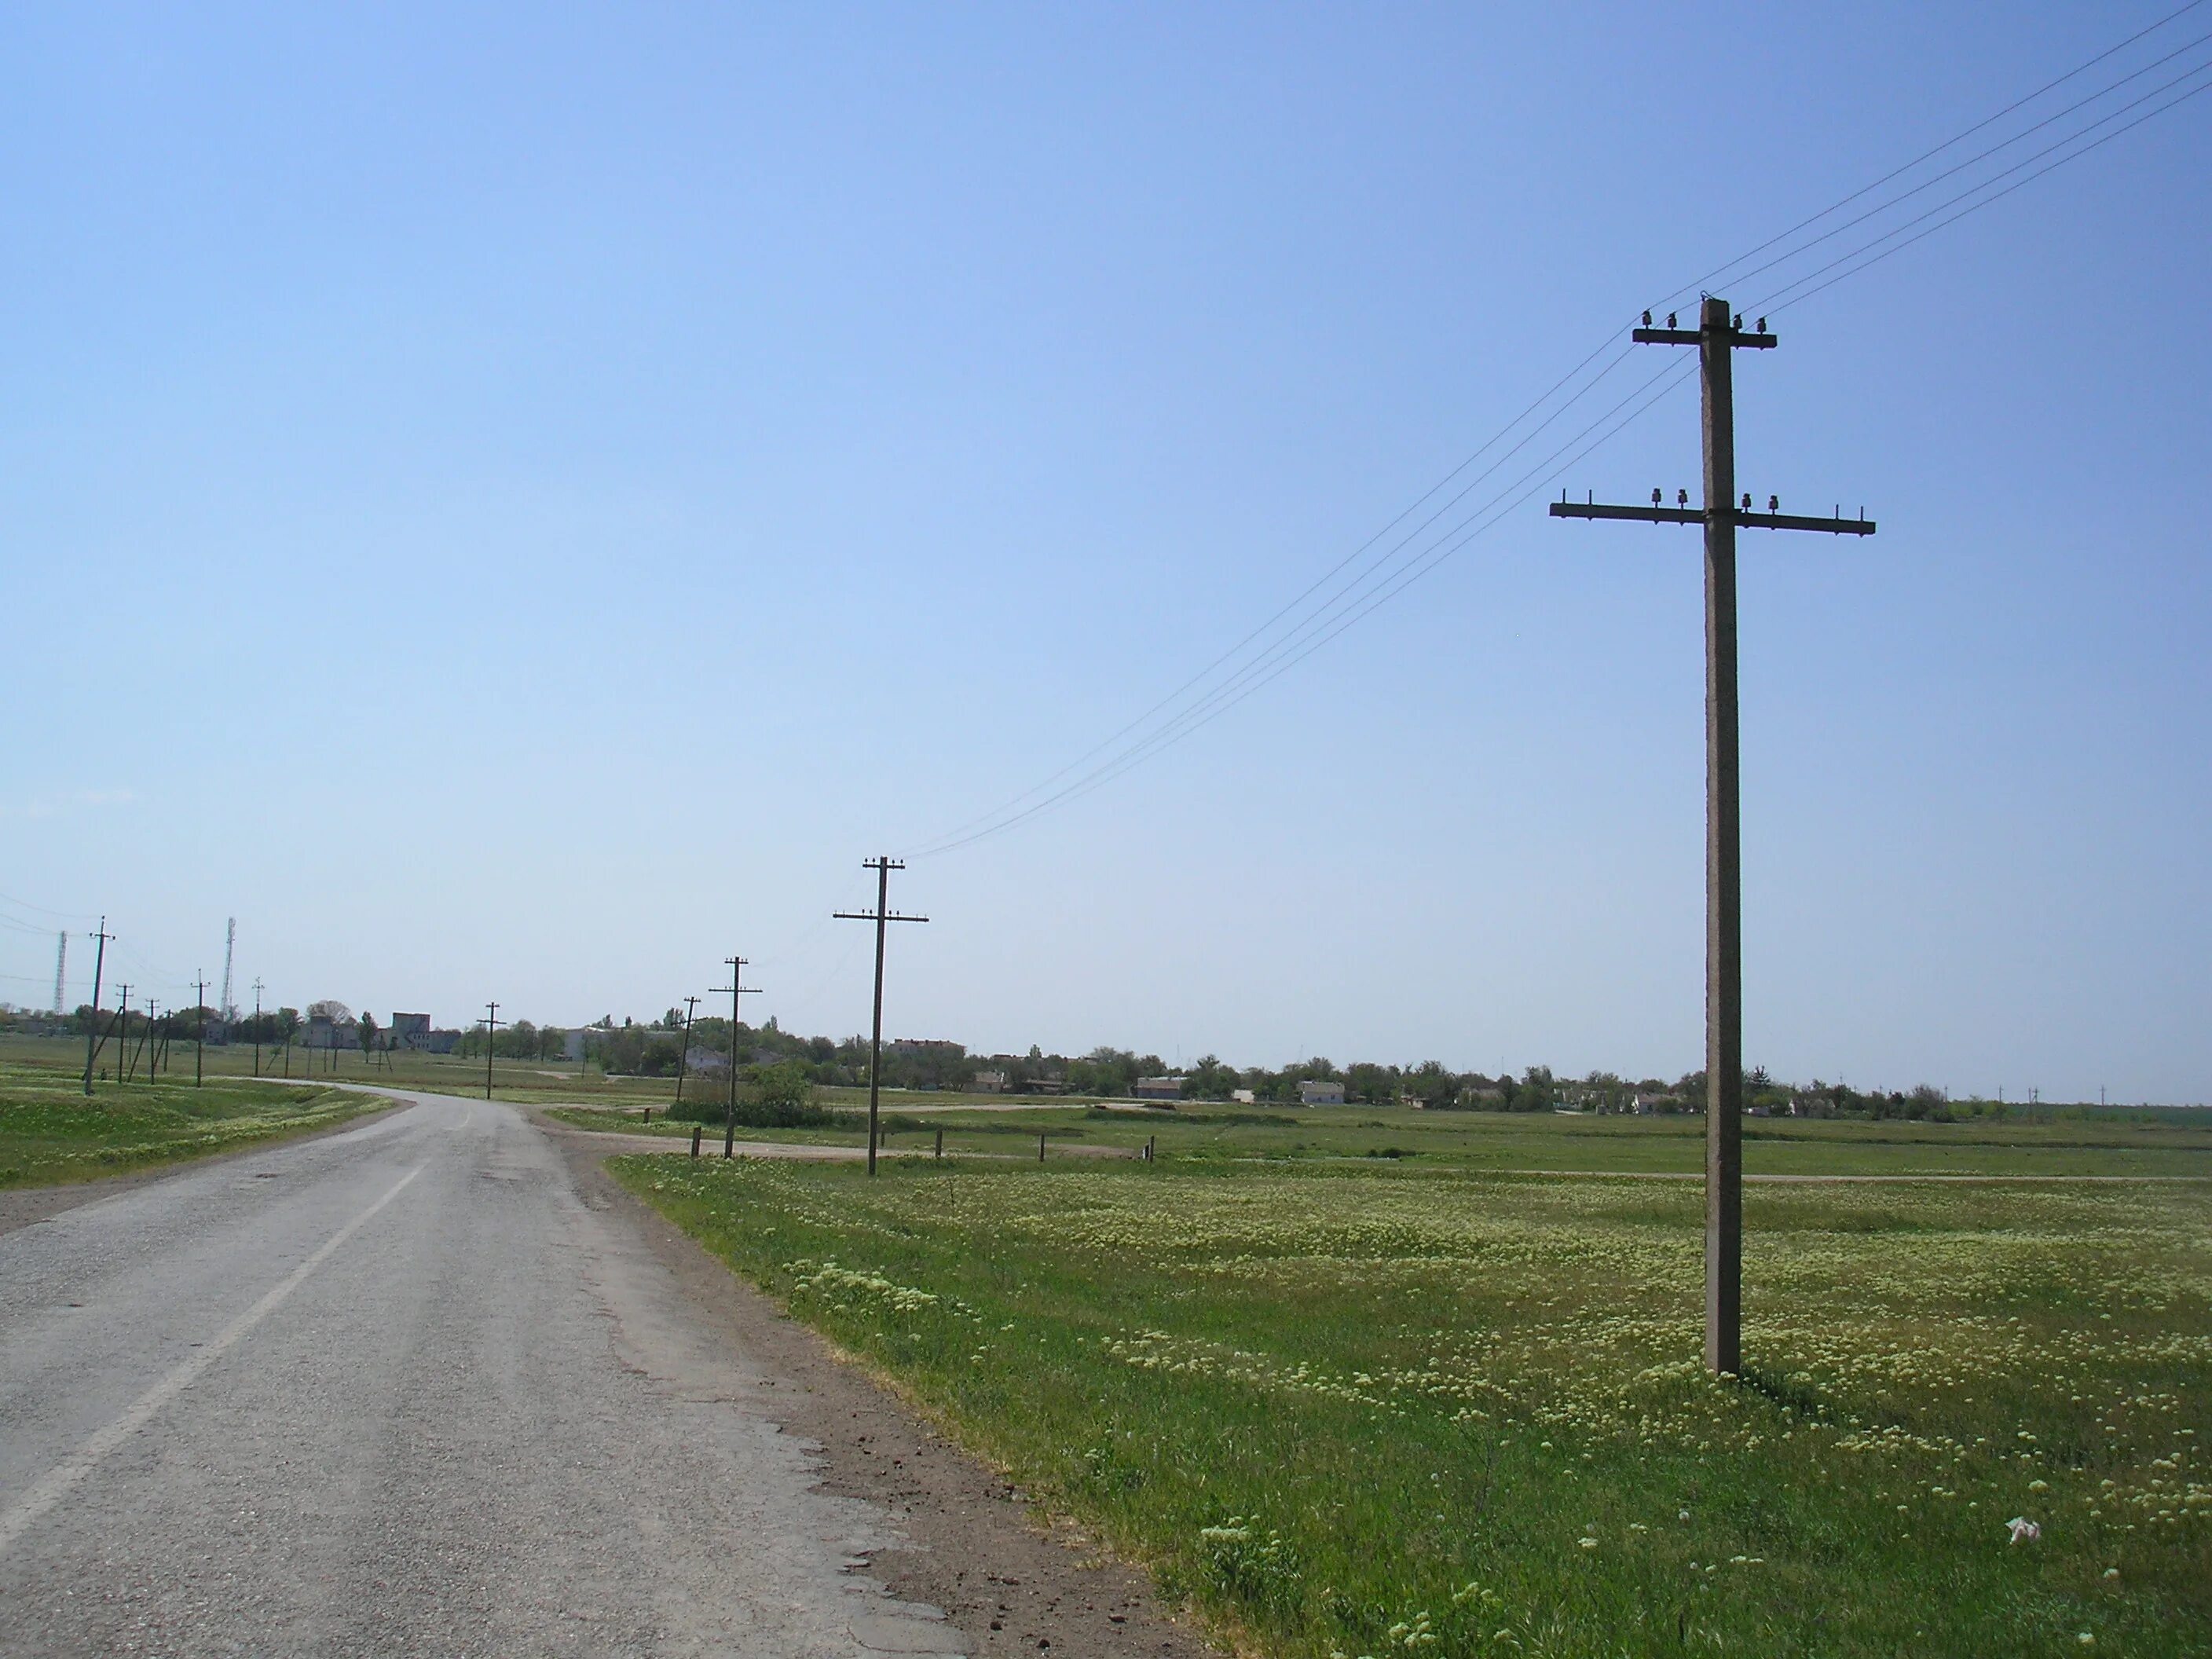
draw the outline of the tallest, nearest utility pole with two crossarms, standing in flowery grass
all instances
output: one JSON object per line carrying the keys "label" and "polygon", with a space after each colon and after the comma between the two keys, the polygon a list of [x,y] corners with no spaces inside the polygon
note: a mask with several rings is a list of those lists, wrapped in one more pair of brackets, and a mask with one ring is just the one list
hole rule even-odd
{"label": "tallest, nearest utility pole with two crossarms, standing in flowery grass", "polygon": [[1736,526],[1874,535],[1858,518],[1798,518],[1776,498],[1754,513],[1736,507],[1734,352],[1772,349],[1767,319],[1750,332],[1728,301],[1705,296],[1697,327],[1644,327],[1644,345],[1694,345],[1705,414],[1705,504],[1688,491],[1674,507],[1652,491],[1650,507],[1557,500],[1553,518],[1630,518],[1650,524],[1701,524],[1705,531],[1705,1369],[1734,1374],[1743,1363],[1743,845],[1736,768]]}

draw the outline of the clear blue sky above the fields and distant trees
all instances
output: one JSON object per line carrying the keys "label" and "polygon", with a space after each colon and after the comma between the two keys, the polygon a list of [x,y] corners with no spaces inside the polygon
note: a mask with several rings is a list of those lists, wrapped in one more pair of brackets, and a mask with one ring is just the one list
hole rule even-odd
{"label": "clear blue sky above the fields and distant trees", "polygon": [[[741,949],[865,1029],[863,856],[2170,9],[18,7],[0,995],[106,911],[188,1000],[237,916],[272,1002],[646,1015]],[[1745,538],[1750,1062],[2212,1097],[2208,179],[2212,97],[1741,363],[1743,487],[1882,526]],[[1694,495],[1694,389],[1562,482]],[[887,1022],[1674,1075],[1701,812],[1694,533],[1528,502],[916,858]]]}

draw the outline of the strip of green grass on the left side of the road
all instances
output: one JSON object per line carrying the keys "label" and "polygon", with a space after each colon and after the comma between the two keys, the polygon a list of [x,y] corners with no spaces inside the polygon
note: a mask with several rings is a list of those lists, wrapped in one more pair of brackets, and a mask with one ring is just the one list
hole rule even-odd
{"label": "strip of green grass on the left side of the road", "polygon": [[192,1077],[100,1084],[82,1073],[0,1062],[0,1188],[55,1186],[228,1152],[343,1124],[385,1102],[321,1084]]}

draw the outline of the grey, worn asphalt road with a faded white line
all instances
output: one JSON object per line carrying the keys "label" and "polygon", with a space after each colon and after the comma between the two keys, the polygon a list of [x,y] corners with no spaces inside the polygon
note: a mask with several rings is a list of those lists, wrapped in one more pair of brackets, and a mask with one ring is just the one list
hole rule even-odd
{"label": "grey, worn asphalt road with a faded white line", "polygon": [[0,1234],[0,1652],[953,1652],[624,1217],[411,1095]]}

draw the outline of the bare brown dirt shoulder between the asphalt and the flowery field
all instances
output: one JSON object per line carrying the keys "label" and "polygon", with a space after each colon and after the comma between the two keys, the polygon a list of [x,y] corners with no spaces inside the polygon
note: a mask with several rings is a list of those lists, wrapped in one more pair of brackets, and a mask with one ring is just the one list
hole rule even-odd
{"label": "bare brown dirt shoulder between the asphalt and the flowery field", "polygon": [[785,1433],[823,1447],[825,1486],[898,1511],[911,1544],[878,1555],[872,1568],[896,1597],[945,1608],[980,1655],[1219,1659],[1219,1648],[1159,1604],[1144,1573],[1115,1562],[1091,1533],[1033,1509],[998,1471],[841,1360],[602,1168],[617,1152],[681,1144],[535,1121],[584,1203],[630,1214],[699,1318],[719,1323],[768,1374],[763,1389],[774,1398],[761,1409]]}

